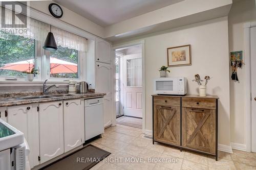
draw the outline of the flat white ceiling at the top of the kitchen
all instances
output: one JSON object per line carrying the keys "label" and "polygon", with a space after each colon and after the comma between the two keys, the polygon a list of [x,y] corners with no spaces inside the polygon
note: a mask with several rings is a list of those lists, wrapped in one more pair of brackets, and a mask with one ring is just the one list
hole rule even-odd
{"label": "flat white ceiling at the top of the kitchen", "polygon": [[184,0],[55,0],[102,27]]}

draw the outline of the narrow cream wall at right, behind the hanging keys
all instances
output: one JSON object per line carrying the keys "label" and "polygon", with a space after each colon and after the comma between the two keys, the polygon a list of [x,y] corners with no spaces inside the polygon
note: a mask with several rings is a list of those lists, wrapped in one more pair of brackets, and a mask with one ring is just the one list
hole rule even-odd
{"label": "narrow cream wall at right, behind the hanging keys", "polygon": [[[228,15],[229,51],[244,51],[245,22],[256,20],[254,0],[234,1]],[[231,67],[230,76],[231,76]],[[245,68],[238,69],[239,82],[230,80],[231,142],[245,144]]]}

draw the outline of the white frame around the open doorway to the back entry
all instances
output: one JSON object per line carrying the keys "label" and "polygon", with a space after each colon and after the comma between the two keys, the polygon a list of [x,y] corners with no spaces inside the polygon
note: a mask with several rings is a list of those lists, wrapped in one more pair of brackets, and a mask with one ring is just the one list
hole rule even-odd
{"label": "white frame around the open doorway to the back entry", "polygon": [[[129,47],[129,46],[134,46],[134,45],[141,45],[141,57],[142,57],[142,86],[143,86],[143,95],[142,95],[142,132],[145,133],[145,41],[136,41],[136,42],[131,42],[131,43],[125,43],[122,45],[113,45],[112,46],[112,57],[115,57],[115,50],[118,48],[124,48],[124,47]],[[115,85],[115,82],[114,82]],[[115,101],[116,102],[116,101]],[[115,103],[114,102],[114,103]],[[115,113],[116,113],[116,108]],[[114,120],[114,125],[116,125],[116,119]]]}

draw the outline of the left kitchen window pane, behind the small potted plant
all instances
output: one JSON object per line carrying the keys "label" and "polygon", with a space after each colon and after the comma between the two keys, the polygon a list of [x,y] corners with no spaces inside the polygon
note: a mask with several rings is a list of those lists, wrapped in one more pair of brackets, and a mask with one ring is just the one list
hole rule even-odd
{"label": "left kitchen window pane, behind the small potted plant", "polygon": [[24,77],[35,66],[35,40],[0,34],[0,76]]}

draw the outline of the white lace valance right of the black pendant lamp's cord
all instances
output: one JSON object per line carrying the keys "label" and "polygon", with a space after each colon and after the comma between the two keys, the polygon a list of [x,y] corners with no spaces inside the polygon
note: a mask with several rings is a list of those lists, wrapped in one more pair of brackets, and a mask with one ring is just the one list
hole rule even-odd
{"label": "white lace valance right of the black pendant lamp's cord", "polygon": [[87,52],[87,39],[68,31],[52,26],[52,33],[54,35],[57,45],[78,50],[79,52]]}

